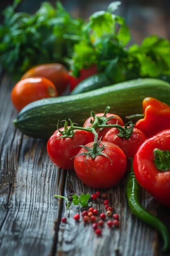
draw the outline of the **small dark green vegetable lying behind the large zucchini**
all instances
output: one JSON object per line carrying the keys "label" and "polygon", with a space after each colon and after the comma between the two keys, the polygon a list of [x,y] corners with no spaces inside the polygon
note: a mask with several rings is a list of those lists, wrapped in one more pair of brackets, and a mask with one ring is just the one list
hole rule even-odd
{"label": "small dark green vegetable lying behind the large zucchini", "polygon": [[90,76],[80,82],[71,92],[71,94],[78,94],[82,92],[89,92],[104,86],[111,85],[112,83],[106,77],[106,74],[100,73]]}

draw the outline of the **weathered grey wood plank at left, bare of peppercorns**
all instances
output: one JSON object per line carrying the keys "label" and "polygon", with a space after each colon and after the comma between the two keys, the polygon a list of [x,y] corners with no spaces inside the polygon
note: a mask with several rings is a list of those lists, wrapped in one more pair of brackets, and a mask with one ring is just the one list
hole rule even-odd
{"label": "weathered grey wood plank at left, bare of peppercorns", "polygon": [[[57,240],[64,173],[46,153],[46,141],[23,136],[13,127],[11,81],[0,87],[0,252],[1,255],[52,255]],[[62,205],[61,205],[62,206]]]}

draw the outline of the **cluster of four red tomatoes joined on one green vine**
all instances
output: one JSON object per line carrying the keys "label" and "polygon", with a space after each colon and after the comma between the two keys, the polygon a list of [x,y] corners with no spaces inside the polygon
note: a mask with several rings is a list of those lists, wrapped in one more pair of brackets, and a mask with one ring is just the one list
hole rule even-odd
{"label": "cluster of four red tomatoes joined on one green vine", "polygon": [[[105,113],[96,116],[104,117]],[[121,117],[107,113],[106,118],[113,117],[107,124],[119,124],[124,126]],[[83,127],[92,126],[94,117],[88,117]],[[68,127],[69,128],[69,127]],[[92,158],[86,156],[87,148],[93,148],[94,134],[86,130],[73,130],[73,137],[62,136],[62,131],[56,130],[49,138],[47,152],[51,160],[60,168],[75,170],[79,179],[86,185],[96,189],[106,189],[115,185],[124,176],[127,169],[127,159],[134,157],[139,146],[146,140],[143,132],[133,128],[129,139],[117,136],[116,128],[103,128],[97,130],[99,149],[103,148],[101,154]],[[81,145],[81,146],[80,146]],[[85,147],[82,147],[82,146]],[[84,154],[85,153],[85,154]]]}

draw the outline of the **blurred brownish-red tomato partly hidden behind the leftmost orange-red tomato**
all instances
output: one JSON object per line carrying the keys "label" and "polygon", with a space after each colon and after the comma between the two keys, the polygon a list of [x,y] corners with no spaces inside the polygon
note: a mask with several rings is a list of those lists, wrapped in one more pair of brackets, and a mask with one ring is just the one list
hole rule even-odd
{"label": "blurred brownish-red tomato partly hidden behind the leftmost orange-red tomato", "polygon": [[59,95],[66,90],[69,81],[68,70],[60,63],[45,63],[29,69],[21,79],[42,76],[53,82]]}

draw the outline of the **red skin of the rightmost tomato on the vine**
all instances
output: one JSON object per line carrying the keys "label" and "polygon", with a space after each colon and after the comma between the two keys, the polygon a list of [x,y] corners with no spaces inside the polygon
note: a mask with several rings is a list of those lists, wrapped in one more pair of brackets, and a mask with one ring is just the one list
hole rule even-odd
{"label": "red skin of the rightmost tomato on the vine", "polygon": [[129,139],[117,136],[118,133],[119,131],[116,128],[111,128],[108,132],[106,132],[103,140],[116,144],[124,151],[127,159],[127,170],[129,171],[130,162],[128,159],[129,157],[135,156],[139,146],[141,146],[141,144],[146,140],[146,136],[141,130],[136,128],[133,128],[132,135]]}

